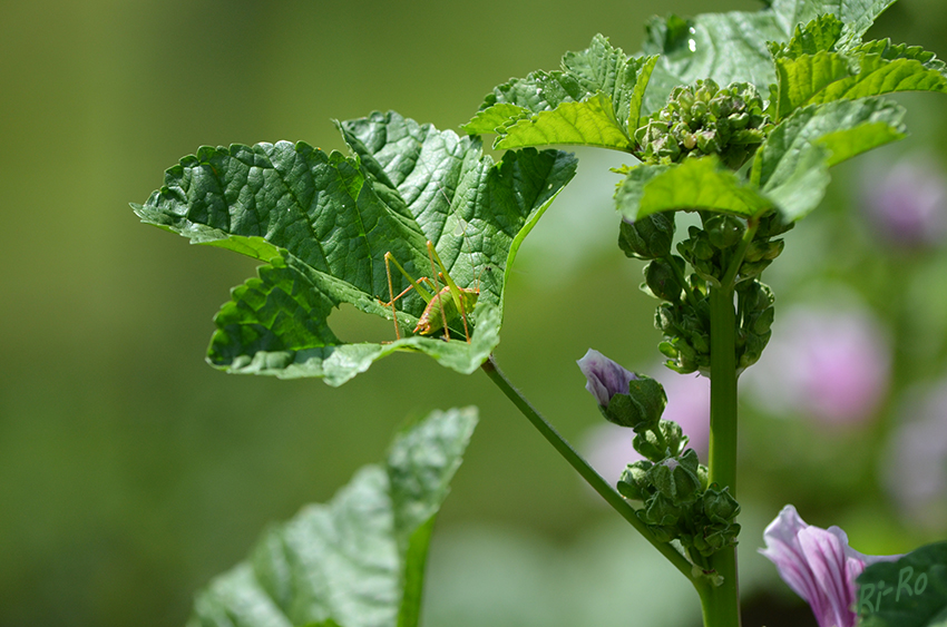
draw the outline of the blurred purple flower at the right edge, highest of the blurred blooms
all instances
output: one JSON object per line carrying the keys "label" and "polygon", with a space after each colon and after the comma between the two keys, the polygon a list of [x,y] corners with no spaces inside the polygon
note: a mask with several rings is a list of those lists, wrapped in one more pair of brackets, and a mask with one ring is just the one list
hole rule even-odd
{"label": "blurred purple flower at the right edge, highest of the blurred blooms", "polygon": [[866,170],[862,203],[876,233],[898,246],[939,244],[947,234],[947,180],[929,158]]}

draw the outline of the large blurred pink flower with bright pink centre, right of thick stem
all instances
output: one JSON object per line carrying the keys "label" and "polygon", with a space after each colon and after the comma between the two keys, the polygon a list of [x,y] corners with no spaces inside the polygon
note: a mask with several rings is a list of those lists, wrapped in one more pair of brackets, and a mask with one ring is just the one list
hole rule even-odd
{"label": "large blurred pink flower with bright pink centre, right of thick stem", "polygon": [[774,413],[831,423],[871,418],[888,390],[890,349],[883,327],[860,307],[794,308],[745,382]]}

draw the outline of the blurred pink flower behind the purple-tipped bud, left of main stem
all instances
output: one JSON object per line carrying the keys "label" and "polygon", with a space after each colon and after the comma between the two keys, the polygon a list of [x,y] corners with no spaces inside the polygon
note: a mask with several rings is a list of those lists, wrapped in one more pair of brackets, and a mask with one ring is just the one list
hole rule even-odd
{"label": "blurred pink flower behind the purple-tipped bud, left of main stem", "polygon": [[[687,445],[697,452],[699,458],[706,460],[710,379],[677,374],[664,368],[655,372],[655,379],[667,393],[667,406],[664,408],[662,419],[680,424],[690,438]],[[644,459],[632,445],[628,430],[611,422],[596,424],[586,431],[582,451],[592,467],[609,481],[617,481],[628,463]]]}

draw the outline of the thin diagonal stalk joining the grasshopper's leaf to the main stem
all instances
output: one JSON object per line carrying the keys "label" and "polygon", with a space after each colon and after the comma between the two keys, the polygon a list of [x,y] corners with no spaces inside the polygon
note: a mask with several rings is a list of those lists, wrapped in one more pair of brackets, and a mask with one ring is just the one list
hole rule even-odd
{"label": "thin diagonal stalk joining the grasshopper's leaf to the main stem", "polygon": [[543,415],[536,411],[536,409],[529,404],[529,401],[512,386],[506,375],[499,370],[497,363],[494,361],[494,356],[490,355],[484,365],[480,366],[484,372],[487,373],[487,376],[499,388],[506,396],[512,401],[512,404],[525,415],[529,422],[535,427],[539,433],[543,434],[546,440],[553,444],[553,447],[559,452],[560,455],[566,458],[566,461],[576,469],[576,471],[585,479],[592,488],[598,492],[598,494],[605,499],[609,506],[612,506],[615,511],[617,511],[622,517],[627,520],[632,527],[637,529],[637,531],[644,536],[644,538],[654,545],[661,553],[666,557],[674,567],[680,570],[684,576],[691,580],[697,591],[703,595],[705,594],[703,590],[707,588],[706,580],[704,578],[695,578],[691,570],[691,562],[681,555],[677,549],[674,548],[670,542],[661,542],[658,541],[654,535],[648,530],[647,526],[641,521],[641,519],[635,513],[634,508],[625,501],[625,499],[615,491],[612,486],[608,484],[605,479],[598,474],[594,468],[592,468],[585,459],[576,452],[575,449],[559,434],[556,429],[549,424],[549,422],[543,418]]}

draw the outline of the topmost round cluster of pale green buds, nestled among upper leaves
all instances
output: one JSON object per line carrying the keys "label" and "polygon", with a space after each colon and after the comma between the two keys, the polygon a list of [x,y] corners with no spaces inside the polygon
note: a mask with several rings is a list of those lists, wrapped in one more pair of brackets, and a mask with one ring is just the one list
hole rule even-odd
{"label": "topmost round cluster of pale green buds, nestled among upper leaves", "polygon": [[720,155],[738,169],[772,127],[763,99],[749,82],[721,88],[711,79],[671,91],[667,105],[635,133],[636,155],[645,164],[673,164],[686,157]]}

